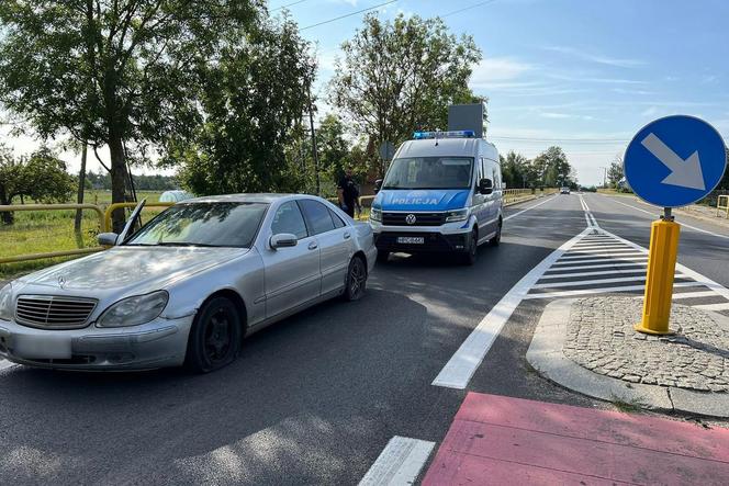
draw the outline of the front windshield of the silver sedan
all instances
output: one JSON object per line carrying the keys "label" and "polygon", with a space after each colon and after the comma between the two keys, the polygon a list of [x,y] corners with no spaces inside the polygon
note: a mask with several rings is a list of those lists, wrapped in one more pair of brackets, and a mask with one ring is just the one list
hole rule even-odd
{"label": "front windshield of the silver sedan", "polygon": [[262,203],[176,205],[150,221],[126,245],[250,248],[267,208]]}

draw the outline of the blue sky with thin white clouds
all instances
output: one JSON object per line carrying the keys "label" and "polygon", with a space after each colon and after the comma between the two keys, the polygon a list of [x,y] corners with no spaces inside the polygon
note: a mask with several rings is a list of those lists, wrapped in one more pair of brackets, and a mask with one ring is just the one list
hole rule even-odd
{"label": "blue sky with thin white clouds", "polygon": [[[319,99],[338,46],[366,13],[335,19],[385,1],[269,1],[272,14],[285,7],[316,44]],[[527,157],[559,145],[581,184],[601,184],[603,168],[661,116],[699,116],[729,139],[725,0],[399,0],[372,11],[382,19],[441,16],[455,34],[473,36],[483,60],[470,86],[489,98],[487,138],[502,154]],[[319,114],[327,111],[321,103]],[[34,144],[5,142],[16,151]],[[78,167],[78,157],[65,159]]]}

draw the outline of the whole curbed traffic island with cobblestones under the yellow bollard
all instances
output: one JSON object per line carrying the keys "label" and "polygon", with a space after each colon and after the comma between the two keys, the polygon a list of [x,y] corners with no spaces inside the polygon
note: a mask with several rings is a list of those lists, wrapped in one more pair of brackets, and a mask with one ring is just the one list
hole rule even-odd
{"label": "whole curbed traffic island with cobblestones under the yellow bollard", "polygon": [[635,330],[642,299],[590,297],[545,308],[527,361],[543,376],[626,408],[729,418],[729,318],[674,304],[671,336]]}

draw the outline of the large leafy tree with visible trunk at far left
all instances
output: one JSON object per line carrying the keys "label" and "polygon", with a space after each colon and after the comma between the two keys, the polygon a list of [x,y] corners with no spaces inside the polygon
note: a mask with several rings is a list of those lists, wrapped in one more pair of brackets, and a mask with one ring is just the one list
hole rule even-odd
{"label": "large leafy tree with visible trunk at far left", "polygon": [[112,201],[122,202],[130,151],[192,133],[200,71],[247,42],[261,9],[260,0],[4,0],[0,101],[43,137],[108,146]]}

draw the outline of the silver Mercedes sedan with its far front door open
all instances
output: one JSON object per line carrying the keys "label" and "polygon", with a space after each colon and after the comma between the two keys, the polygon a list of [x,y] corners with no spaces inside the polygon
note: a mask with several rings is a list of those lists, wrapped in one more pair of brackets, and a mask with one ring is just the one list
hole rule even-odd
{"label": "silver Mercedes sedan with its far front door open", "polygon": [[[310,195],[244,194],[178,203],[113,248],[0,290],[0,355],[75,370],[236,359],[245,336],[322,301],[365,293],[372,230]],[[137,225],[138,226],[138,225]]]}

